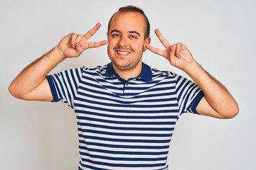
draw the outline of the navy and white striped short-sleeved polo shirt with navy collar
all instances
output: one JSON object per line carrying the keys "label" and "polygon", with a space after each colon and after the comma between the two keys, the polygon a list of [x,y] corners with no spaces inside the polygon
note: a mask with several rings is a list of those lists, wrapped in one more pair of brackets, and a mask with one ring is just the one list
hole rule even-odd
{"label": "navy and white striped short-sleeved polo shirt with navy collar", "polygon": [[128,81],[112,63],[48,75],[53,101],[73,108],[78,123],[78,169],[168,169],[176,121],[197,113],[203,92],[172,72],[151,69]]}

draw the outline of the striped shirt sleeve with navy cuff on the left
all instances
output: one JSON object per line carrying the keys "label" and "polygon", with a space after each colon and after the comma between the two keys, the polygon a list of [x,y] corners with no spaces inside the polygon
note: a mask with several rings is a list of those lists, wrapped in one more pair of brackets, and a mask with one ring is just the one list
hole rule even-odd
{"label": "striped shirt sleeve with navy cuff on the left", "polygon": [[53,95],[53,102],[63,101],[74,108],[74,99],[78,91],[82,68],[69,69],[46,77]]}

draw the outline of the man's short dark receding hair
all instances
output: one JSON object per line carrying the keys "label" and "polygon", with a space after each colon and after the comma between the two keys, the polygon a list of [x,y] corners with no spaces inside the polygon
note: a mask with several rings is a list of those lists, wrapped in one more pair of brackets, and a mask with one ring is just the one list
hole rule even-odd
{"label": "man's short dark receding hair", "polygon": [[142,15],[144,16],[144,21],[146,23],[146,30],[145,30],[145,35],[144,35],[144,39],[149,38],[149,33],[150,33],[150,23],[149,23],[149,19],[146,17],[144,11],[142,10],[142,8],[139,8],[137,6],[124,6],[119,8],[119,11],[117,11],[116,13],[114,13],[114,15],[110,18],[110,21],[108,23],[108,27],[107,27],[107,33],[110,33],[110,23],[112,21],[112,18],[115,16],[115,14],[117,13],[124,13],[124,12],[138,12],[138,13],[142,13]]}

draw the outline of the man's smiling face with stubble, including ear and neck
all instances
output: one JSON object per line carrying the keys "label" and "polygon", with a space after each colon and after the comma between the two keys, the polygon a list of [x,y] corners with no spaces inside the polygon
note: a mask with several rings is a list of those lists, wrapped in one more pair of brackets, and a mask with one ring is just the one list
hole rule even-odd
{"label": "man's smiling face with stubble, including ear and neck", "polygon": [[150,42],[150,38],[144,40],[145,30],[146,23],[141,13],[117,13],[112,18],[107,34],[107,53],[116,72],[141,69],[145,43]]}

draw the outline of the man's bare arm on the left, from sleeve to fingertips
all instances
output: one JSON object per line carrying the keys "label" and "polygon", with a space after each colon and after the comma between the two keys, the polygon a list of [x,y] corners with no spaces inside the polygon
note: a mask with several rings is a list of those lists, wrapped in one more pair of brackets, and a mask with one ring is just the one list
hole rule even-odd
{"label": "man's bare arm on the left, from sleeve to fingertips", "polygon": [[100,28],[100,23],[85,35],[70,33],[59,44],[38,60],[29,64],[9,86],[10,93],[28,101],[52,101],[53,96],[46,75],[67,57],[78,57],[83,50],[100,47],[107,44],[107,40],[87,42]]}

